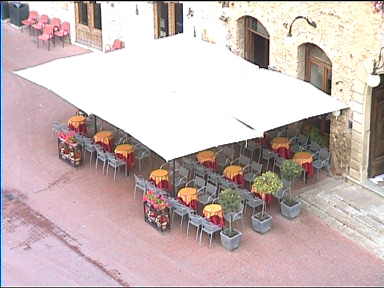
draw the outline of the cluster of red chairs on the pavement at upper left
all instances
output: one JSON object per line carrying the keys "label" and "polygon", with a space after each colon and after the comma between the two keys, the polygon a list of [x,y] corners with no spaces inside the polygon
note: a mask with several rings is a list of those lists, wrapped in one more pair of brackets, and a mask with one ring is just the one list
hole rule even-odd
{"label": "cluster of red chairs on the pavement at upper left", "polygon": [[[47,42],[48,50],[50,48],[50,42],[53,41],[53,45],[56,46],[55,39],[61,39],[64,47],[64,42],[68,39],[71,43],[70,37],[70,24],[67,21],[61,22],[60,18],[54,17],[50,19],[48,15],[41,15],[39,18],[39,13],[36,11],[30,11],[27,19],[22,21],[24,28],[28,28],[30,34],[34,32],[36,36],[37,47],[39,47],[39,42]],[[117,45],[118,47],[119,45]],[[118,48],[116,48],[118,49]]]}

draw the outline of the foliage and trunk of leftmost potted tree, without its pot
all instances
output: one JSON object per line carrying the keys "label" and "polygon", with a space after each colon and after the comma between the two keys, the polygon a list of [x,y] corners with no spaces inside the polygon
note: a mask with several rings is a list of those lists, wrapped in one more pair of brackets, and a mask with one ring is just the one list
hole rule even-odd
{"label": "foliage and trunk of leftmost potted tree, without its pot", "polygon": [[232,228],[233,214],[241,209],[241,196],[237,190],[225,189],[219,194],[218,203],[221,205],[224,213],[229,214],[229,227],[223,230],[223,233],[228,237],[233,237],[237,234]]}

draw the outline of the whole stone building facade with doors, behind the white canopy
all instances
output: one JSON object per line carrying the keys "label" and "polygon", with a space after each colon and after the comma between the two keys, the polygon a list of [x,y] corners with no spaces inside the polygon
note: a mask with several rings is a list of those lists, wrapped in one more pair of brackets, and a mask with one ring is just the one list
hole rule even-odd
{"label": "whole stone building facade with doors, behind the white canopy", "polygon": [[367,84],[374,61],[383,66],[377,61],[384,53],[384,14],[372,1],[27,3],[30,10],[70,22],[72,42],[95,51],[105,51],[115,39],[146,45],[184,33],[312,83],[350,109],[294,125],[305,129],[311,123],[327,136],[336,174],[384,195],[383,187],[369,181],[384,174],[384,80],[377,87]]}

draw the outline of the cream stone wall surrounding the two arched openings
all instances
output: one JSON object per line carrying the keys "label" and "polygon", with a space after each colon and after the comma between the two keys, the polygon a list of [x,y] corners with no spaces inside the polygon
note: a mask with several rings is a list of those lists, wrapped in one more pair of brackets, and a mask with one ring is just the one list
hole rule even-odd
{"label": "cream stone wall surrounding the two arched openings", "polygon": [[[231,2],[227,12],[227,45],[243,56],[243,16],[260,21],[270,34],[270,65],[282,73],[304,78],[304,43],[319,46],[332,62],[332,93],[350,105],[337,119],[332,116],[330,150],[336,171],[362,181],[367,170],[371,89],[366,85],[369,63],[384,46],[384,19],[371,2]],[[296,16],[308,16],[313,28]],[[368,63],[368,64],[367,64]],[[310,95],[309,95],[310,97]],[[352,128],[349,122],[352,121]]]}

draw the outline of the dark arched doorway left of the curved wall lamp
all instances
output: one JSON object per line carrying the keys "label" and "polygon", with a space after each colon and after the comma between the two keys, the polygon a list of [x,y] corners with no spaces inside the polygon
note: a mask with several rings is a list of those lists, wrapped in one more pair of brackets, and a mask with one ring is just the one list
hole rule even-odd
{"label": "dark arched doorway left of the curved wall lamp", "polygon": [[244,17],[244,58],[262,68],[269,66],[269,33],[257,19]]}

